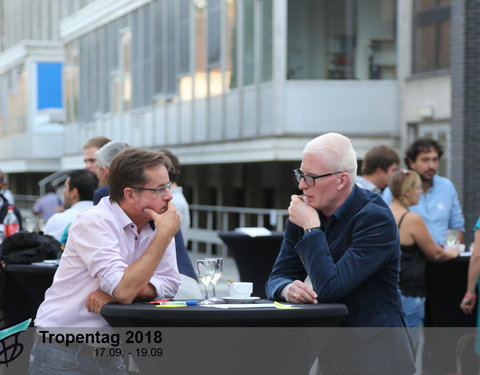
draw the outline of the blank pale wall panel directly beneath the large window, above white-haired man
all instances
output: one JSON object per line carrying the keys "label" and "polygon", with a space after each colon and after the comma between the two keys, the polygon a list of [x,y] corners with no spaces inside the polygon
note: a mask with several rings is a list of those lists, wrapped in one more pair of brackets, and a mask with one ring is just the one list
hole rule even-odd
{"label": "blank pale wall panel directly beneath the large window, above white-haired man", "polygon": [[395,81],[289,81],[285,92],[288,133],[398,132]]}

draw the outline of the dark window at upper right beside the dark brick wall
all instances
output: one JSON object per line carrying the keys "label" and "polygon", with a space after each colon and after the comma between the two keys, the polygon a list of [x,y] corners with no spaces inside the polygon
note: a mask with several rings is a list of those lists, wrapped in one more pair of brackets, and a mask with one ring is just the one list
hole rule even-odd
{"label": "dark window at upper right beside the dark brick wall", "polygon": [[412,72],[450,67],[450,2],[416,0],[413,15]]}

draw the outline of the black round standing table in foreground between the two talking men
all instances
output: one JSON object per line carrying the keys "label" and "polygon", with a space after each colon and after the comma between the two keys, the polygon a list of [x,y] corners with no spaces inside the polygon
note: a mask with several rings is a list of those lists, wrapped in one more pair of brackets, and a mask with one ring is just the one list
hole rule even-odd
{"label": "black round standing table in foreground between the two talking men", "polygon": [[272,304],[224,310],[134,303],[105,305],[101,314],[120,337],[132,339],[124,340],[122,350],[142,374],[308,374],[347,308],[318,304],[280,310]]}

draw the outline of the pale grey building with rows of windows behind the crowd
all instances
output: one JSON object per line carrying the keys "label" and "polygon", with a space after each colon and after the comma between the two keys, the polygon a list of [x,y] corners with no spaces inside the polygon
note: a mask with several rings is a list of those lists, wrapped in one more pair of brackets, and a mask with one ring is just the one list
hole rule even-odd
{"label": "pale grey building with rows of windows behind the crowd", "polygon": [[[2,19],[35,18],[0,3]],[[447,150],[440,174],[460,183],[450,51],[464,1],[39,3],[57,29],[17,27],[0,42],[0,168],[20,194],[35,193],[22,190],[34,172],[83,167],[96,135],[169,148],[196,204],[286,208],[303,146],[329,131],[350,137],[360,161],[374,145],[403,154],[433,136]],[[46,94],[56,64],[62,79]]]}

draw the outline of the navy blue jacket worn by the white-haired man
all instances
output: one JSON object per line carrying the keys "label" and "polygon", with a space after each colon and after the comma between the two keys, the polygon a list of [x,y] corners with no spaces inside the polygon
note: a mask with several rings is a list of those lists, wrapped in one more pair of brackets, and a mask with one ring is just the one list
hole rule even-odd
{"label": "navy blue jacket worn by the white-haired man", "polygon": [[267,297],[282,299],[287,284],[308,274],[319,302],[347,305],[343,325],[404,326],[398,229],[382,197],[354,186],[328,220],[319,217],[322,229],[308,234],[287,220]]}

